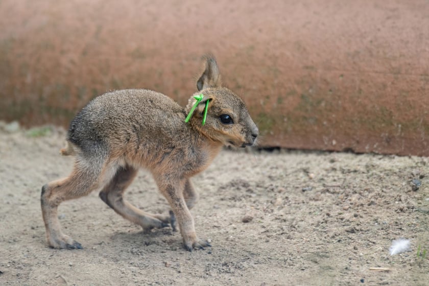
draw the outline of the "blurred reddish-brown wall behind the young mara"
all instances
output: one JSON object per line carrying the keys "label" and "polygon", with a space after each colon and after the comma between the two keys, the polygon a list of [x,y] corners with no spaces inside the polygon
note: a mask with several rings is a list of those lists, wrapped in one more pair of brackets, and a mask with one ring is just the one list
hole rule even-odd
{"label": "blurred reddish-brown wall behind the young mara", "polygon": [[97,94],[130,87],[183,105],[210,51],[264,146],[427,156],[428,11],[425,0],[4,0],[0,119],[66,126]]}

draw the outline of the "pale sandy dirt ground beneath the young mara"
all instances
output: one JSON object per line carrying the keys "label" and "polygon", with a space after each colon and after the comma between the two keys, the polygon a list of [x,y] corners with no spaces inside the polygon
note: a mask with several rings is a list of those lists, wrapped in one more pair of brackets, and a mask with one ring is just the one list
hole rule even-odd
{"label": "pale sandy dirt ground beneath the young mara", "polygon": [[[170,228],[145,234],[93,193],[59,208],[64,232],[84,249],[55,250],[45,242],[39,198],[43,184],[71,170],[73,157],[58,153],[64,131],[5,129],[1,285],[429,283],[428,158],[225,150],[193,180],[197,234],[212,247],[189,253]],[[127,199],[150,212],[169,209],[145,171]],[[411,251],[391,256],[400,237]]]}

